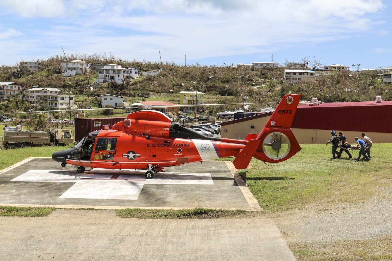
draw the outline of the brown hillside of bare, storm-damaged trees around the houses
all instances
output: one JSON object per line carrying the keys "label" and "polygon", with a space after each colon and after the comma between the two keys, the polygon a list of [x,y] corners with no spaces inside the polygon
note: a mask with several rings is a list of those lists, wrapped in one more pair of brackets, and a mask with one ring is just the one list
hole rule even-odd
{"label": "brown hillside of bare, storm-damaged trees around the houses", "polygon": [[[99,87],[88,88],[98,79],[97,71],[86,72],[72,77],[63,77],[61,63],[67,60],[83,60],[93,65],[119,64],[122,67],[135,68],[139,71],[160,69],[155,76],[140,76],[127,83],[104,83]],[[316,71],[318,77],[314,82],[287,83],[283,81],[284,67],[250,69],[230,66],[201,66],[199,64],[180,66],[175,63],[138,62],[122,60],[113,55],[72,54],[70,56],[54,56],[41,60],[40,71],[3,66],[0,68],[0,82],[16,82],[29,87],[72,88],[80,108],[96,106],[94,96],[114,94],[123,96],[128,103],[143,100],[164,100],[179,103],[180,91],[204,92],[206,103],[253,103],[252,111],[266,107],[276,107],[283,95],[289,93],[302,94],[301,100],[318,98],[323,102],[341,101],[374,101],[376,96],[383,100],[392,100],[391,85],[382,83],[382,74],[376,71],[362,73],[359,70]],[[287,61],[286,61],[287,62]],[[31,104],[23,97],[7,97],[0,103],[0,114],[31,109]],[[37,108],[34,108],[37,109]],[[47,109],[47,108],[39,108]],[[213,114],[221,110],[234,109],[217,106],[205,107],[207,113]]]}

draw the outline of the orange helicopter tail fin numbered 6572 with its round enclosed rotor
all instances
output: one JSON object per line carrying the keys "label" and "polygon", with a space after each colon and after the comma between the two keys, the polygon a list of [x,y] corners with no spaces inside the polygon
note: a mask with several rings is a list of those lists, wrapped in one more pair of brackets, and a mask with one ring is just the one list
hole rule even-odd
{"label": "orange helicopter tail fin numbered 6572 with its round enclosed rotor", "polygon": [[281,162],[301,150],[290,129],[300,98],[301,94],[283,96],[257,138],[249,137],[234,159],[236,169],[246,169],[252,157],[265,162]]}

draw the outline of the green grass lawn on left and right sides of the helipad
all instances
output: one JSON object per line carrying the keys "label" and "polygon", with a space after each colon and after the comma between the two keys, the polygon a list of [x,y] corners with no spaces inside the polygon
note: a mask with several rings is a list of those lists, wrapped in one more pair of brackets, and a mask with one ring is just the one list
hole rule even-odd
{"label": "green grass lawn on left and right sides of the helipad", "polygon": [[[325,200],[361,201],[373,196],[390,178],[392,167],[388,152],[392,144],[375,144],[372,160],[368,162],[349,160],[345,154],[346,158],[332,160],[330,146],[305,144],[301,147],[302,150],[287,161],[268,166],[252,159],[247,169],[238,171],[264,210],[279,212]],[[33,156],[51,157],[53,152],[62,149],[66,147],[0,150],[0,169]],[[357,153],[358,150],[352,154],[356,157]]]}

